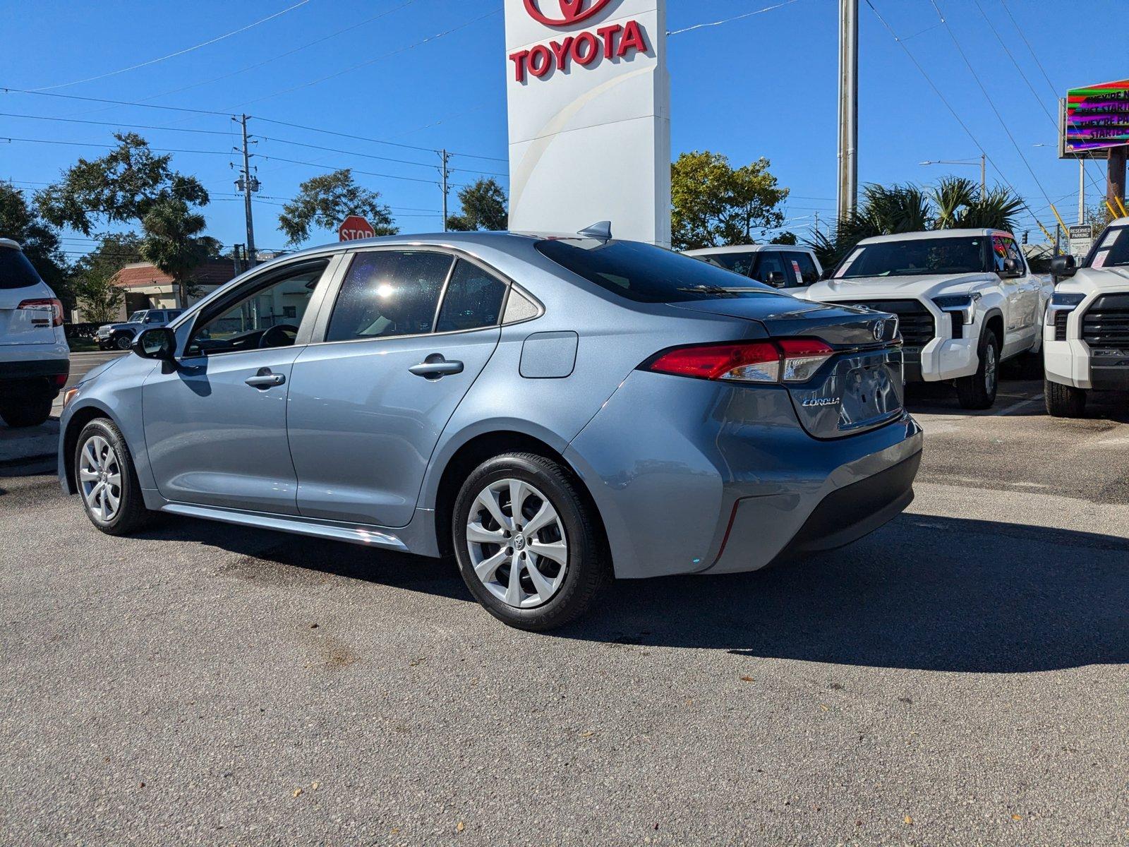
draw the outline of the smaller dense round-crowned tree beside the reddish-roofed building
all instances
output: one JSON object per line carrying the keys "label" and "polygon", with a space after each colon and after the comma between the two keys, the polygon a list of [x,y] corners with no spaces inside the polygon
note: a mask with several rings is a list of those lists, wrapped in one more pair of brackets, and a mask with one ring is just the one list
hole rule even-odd
{"label": "smaller dense round-crowned tree beside the reddish-roofed building", "polygon": [[145,228],[141,256],[173,278],[177,305],[183,308],[189,304],[189,296],[199,290],[192,272],[209,256],[219,254],[219,242],[201,235],[208,226],[203,215],[173,198],[152,204],[141,226]]}

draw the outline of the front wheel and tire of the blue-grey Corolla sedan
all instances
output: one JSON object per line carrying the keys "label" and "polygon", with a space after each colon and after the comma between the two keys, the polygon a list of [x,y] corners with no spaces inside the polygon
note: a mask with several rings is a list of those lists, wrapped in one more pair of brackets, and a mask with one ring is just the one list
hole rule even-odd
{"label": "front wheel and tire of the blue-grey Corolla sedan", "polygon": [[96,418],[82,427],[75,446],[75,487],[82,508],[107,535],[129,535],[148,523],[133,457],[113,421]]}

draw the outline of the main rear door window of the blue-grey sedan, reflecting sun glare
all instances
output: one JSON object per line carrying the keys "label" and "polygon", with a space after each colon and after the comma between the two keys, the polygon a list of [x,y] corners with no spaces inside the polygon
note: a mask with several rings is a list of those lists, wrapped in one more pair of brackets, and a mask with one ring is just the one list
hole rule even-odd
{"label": "main rear door window of the blue-grey sedan, reflecting sun glare", "polygon": [[423,251],[358,253],[341,283],[326,341],[431,332],[452,257]]}

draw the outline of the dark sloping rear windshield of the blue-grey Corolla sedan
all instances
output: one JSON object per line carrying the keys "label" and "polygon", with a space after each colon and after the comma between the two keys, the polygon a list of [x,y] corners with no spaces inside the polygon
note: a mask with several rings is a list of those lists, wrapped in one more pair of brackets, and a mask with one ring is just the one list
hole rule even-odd
{"label": "dark sloping rear windshield of the blue-grey Corolla sedan", "polygon": [[[560,238],[537,242],[537,251],[601,288],[636,303],[779,296],[768,286],[715,264],[639,242]],[[730,288],[742,290],[727,290]]]}

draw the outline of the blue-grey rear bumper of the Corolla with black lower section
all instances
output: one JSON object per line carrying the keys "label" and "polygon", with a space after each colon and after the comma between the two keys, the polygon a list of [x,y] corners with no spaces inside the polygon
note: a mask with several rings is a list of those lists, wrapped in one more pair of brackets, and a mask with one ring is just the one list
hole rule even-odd
{"label": "blue-grey rear bumper of the Corolla with black lower section", "polygon": [[[821,440],[784,388],[634,372],[564,457],[596,501],[616,577],[641,578],[756,570],[794,544],[848,543],[909,503],[921,443],[908,413]],[[903,475],[882,475],[895,466]],[[843,489],[854,495],[831,497]]]}

